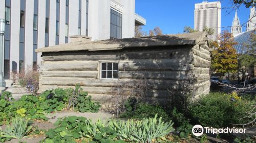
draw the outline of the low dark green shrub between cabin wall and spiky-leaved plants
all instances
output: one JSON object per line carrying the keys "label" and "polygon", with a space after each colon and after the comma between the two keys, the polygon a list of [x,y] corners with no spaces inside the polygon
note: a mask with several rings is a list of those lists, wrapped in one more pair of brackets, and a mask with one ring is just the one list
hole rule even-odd
{"label": "low dark green shrub between cabin wall and spiky-leaved plants", "polygon": [[[131,108],[130,106],[128,107]],[[129,117],[142,120],[143,118],[155,117],[156,114],[161,116],[164,121],[168,120],[168,115],[166,114],[163,107],[158,105],[151,105],[148,103],[138,103],[135,105],[134,110],[129,109],[121,114],[120,117]]]}

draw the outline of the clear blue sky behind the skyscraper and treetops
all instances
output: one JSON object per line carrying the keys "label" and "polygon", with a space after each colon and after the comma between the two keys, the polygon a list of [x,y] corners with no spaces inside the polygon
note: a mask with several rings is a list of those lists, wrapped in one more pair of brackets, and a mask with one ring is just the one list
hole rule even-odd
{"label": "clear blue sky behind the skyscraper and treetops", "polygon": [[[185,26],[194,28],[194,8],[196,3],[203,2],[202,0],[135,0],[136,13],[146,19],[146,26],[143,30],[147,31],[160,27],[164,34],[183,33]],[[215,2],[215,1],[208,1]],[[232,6],[232,1],[222,0],[221,7],[227,8]],[[232,25],[232,20],[235,11],[231,9],[221,10],[221,26],[223,30],[229,30]],[[238,16],[241,23],[244,23],[249,18],[250,9],[244,6],[238,9]],[[243,31],[245,27],[243,27]]]}

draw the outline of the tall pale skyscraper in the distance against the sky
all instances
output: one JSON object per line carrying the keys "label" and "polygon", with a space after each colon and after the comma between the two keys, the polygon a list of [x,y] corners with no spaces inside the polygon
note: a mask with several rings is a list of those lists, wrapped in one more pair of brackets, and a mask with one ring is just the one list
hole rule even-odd
{"label": "tall pale skyscraper in the distance against the sky", "polygon": [[215,30],[209,40],[217,40],[221,33],[221,2],[203,2],[195,4],[194,29],[203,31],[205,27]]}

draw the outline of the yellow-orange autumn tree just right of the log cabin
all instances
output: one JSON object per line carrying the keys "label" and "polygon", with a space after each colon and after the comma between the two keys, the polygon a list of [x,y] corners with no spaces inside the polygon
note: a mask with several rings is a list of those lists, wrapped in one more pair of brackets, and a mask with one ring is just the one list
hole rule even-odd
{"label": "yellow-orange autumn tree just right of the log cabin", "polygon": [[236,73],[238,55],[233,46],[237,42],[234,41],[233,35],[228,31],[224,31],[218,40],[220,42],[212,42],[212,47],[215,50],[212,52],[211,70],[221,74]]}

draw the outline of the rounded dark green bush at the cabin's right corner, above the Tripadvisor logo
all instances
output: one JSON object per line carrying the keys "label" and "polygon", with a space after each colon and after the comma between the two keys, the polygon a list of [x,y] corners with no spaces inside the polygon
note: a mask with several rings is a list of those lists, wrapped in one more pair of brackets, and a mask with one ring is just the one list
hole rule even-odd
{"label": "rounded dark green bush at the cabin's right corner, above the Tripadvisor logo", "polygon": [[230,94],[210,93],[191,104],[188,111],[193,122],[202,126],[221,128],[230,124],[244,124],[255,118],[255,115],[243,118],[252,104],[253,101],[243,98],[232,101]]}

